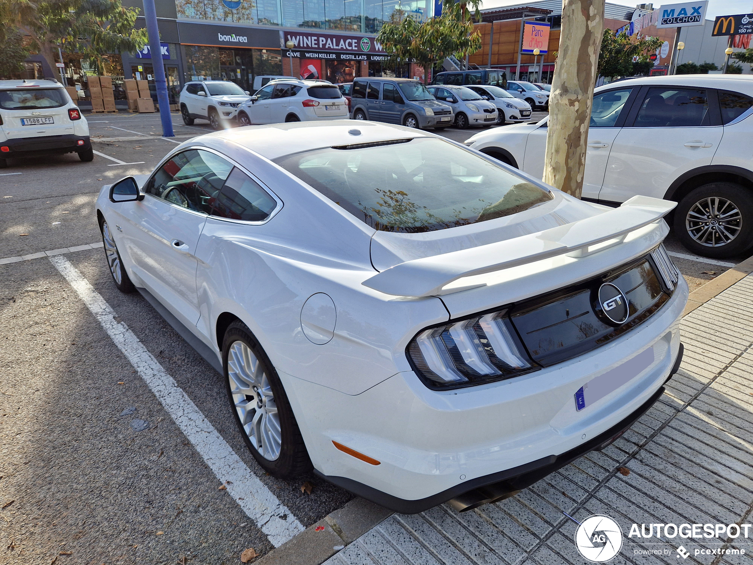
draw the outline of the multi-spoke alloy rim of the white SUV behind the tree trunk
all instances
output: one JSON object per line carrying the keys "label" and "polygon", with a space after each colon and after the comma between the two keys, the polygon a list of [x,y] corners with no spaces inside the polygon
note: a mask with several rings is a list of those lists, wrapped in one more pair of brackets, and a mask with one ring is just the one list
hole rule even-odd
{"label": "multi-spoke alloy rim of the white SUV behind the tree trunk", "polygon": [[687,234],[702,246],[724,246],[740,233],[742,214],[730,200],[708,197],[699,200],[688,210],[685,228]]}

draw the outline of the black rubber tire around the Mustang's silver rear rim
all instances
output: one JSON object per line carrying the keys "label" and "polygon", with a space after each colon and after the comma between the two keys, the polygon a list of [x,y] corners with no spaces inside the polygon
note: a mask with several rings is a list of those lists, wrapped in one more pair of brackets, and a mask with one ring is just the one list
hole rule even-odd
{"label": "black rubber tire around the Mustang's silver rear rim", "polygon": [[[228,357],[230,350],[236,342],[241,342],[248,347],[251,353],[256,357],[264,368],[264,374],[267,377],[267,383],[273,393],[273,401],[276,404],[277,414],[279,416],[280,427],[280,448],[279,456],[275,460],[269,460],[264,457],[259,448],[248,437],[248,433],[243,428],[239,417],[239,411],[236,409],[236,401],[233,399],[233,388],[230,386],[230,365]],[[233,322],[225,331],[222,342],[222,367],[225,376],[225,385],[227,387],[227,398],[230,401],[230,409],[233,411],[238,429],[243,436],[246,446],[251,450],[255,460],[270,475],[280,478],[294,477],[311,471],[313,466],[309,459],[309,453],[306,450],[306,444],[303,443],[303,437],[300,435],[298,423],[295,420],[293,409],[288,402],[288,395],[285,394],[285,387],[282,386],[277,371],[264,353],[264,350],[253,337],[251,331],[243,322]],[[235,381],[233,381],[235,382]],[[248,395],[245,395],[248,400]],[[252,397],[253,399],[253,397]],[[265,401],[266,402],[266,401]],[[254,410],[256,408],[253,408]]]}

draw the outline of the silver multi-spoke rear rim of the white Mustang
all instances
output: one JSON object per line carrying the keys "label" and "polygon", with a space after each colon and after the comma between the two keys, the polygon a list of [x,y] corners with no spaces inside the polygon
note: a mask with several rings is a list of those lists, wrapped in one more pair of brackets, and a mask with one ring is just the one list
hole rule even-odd
{"label": "silver multi-spoke rear rim of the white Mustang", "polygon": [[261,457],[276,460],[282,432],[275,397],[264,364],[242,341],[230,345],[227,378],[241,425]]}

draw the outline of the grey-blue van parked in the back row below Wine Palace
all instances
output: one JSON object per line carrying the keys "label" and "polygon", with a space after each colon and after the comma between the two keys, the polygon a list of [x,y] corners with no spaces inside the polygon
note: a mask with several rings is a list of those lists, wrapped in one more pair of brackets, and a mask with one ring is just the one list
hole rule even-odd
{"label": "grey-blue van parked in the back row below Wine Palace", "polygon": [[354,78],[350,94],[354,120],[385,121],[406,127],[448,127],[453,108],[439,102],[411,78]]}

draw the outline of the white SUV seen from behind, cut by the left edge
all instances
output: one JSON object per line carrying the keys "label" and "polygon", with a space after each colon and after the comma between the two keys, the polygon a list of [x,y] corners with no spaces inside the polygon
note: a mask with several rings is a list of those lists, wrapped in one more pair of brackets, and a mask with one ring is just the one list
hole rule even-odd
{"label": "white SUV seen from behind, cut by the left edge", "polygon": [[57,81],[0,81],[0,169],[8,159],[78,153],[94,158],[89,125]]}

